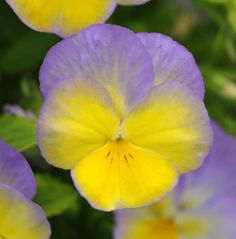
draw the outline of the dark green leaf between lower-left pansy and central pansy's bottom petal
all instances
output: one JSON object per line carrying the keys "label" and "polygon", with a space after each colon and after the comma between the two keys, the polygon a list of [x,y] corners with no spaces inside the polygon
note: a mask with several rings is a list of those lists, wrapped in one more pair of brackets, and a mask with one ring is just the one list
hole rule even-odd
{"label": "dark green leaf between lower-left pansy and central pansy's bottom petal", "polygon": [[47,217],[58,216],[66,211],[78,209],[78,193],[55,176],[37,174],[35,202],[42,206]]}

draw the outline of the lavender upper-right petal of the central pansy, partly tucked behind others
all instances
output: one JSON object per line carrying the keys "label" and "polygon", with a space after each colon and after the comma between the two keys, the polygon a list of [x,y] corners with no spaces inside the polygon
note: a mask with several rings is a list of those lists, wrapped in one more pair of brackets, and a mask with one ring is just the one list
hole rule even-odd
{"label": "lavender upper-right petal of the central pansy, partly tucked behind others", "polygon": [[188,86],[201,99],[204,82],[193,55],[170,37],[159,33],[140,33],[155,68],[155,84],[178,82]]}

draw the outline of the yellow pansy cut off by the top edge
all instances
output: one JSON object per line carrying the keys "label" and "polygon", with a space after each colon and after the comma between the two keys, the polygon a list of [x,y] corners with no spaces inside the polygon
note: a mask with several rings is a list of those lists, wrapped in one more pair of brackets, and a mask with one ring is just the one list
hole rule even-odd
{"label": "yellow pansy cut off by the top edge", "polygon": [[149,0],[6,0],[19,18],[41,32],[66,37],[95,23],[105,22],[117,4],[137,5]]}

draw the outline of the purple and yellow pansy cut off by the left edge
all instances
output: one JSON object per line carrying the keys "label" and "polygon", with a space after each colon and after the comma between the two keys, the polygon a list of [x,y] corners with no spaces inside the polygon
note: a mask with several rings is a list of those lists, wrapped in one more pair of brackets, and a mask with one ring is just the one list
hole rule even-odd
{"label": "purple and yellow pansy cut off by the left edge", "polygon": [[50,226],[33,203],[33,172],[24,157],[0,141],[0,239],[48,239]]}

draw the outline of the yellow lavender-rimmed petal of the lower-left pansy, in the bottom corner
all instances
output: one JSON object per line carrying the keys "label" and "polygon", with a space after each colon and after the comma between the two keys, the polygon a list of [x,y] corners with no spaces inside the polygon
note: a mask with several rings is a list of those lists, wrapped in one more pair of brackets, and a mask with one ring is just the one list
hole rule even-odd
{"label": "yellow lavender-rimmed petal of the lower-left pansy, in the bottom corner", "polygon": [[0,237],[48,239],[50,225],[43,210],[20,192],[0,184]]}

